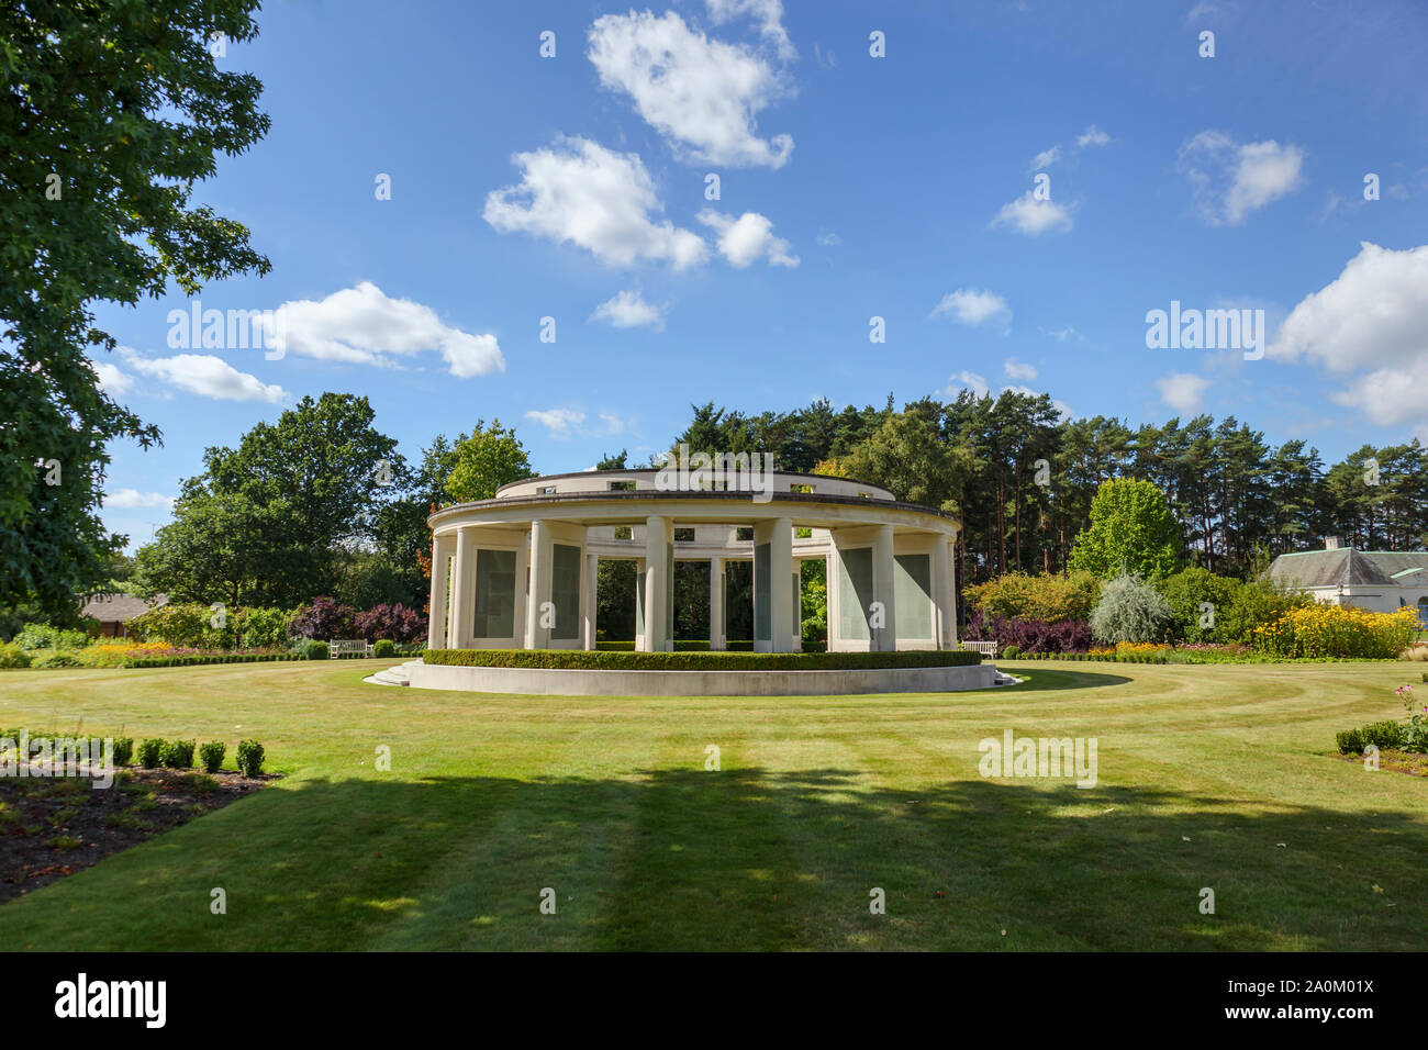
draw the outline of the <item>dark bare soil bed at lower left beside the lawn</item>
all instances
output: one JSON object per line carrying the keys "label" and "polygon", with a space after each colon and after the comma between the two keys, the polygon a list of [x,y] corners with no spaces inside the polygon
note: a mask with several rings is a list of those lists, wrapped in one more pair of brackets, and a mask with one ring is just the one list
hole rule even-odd
{"label": "dark bare soil bed at lower left beside the lawn", "polygon": [[121,769],[84,777],[0,777],[0,903],[261,790],[277,774]]}

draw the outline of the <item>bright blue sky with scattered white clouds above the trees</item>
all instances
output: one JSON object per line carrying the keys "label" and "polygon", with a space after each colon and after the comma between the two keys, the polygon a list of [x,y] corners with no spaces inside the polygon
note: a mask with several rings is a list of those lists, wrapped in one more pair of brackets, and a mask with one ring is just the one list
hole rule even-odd
{"label": "bright blue sky with scattered white clouds above the trees", "polygon": [[[124,346],[103,380],[164,431],[113,449],[104,519],[134,543],[206,446],[324,390],[370,397],[408,459],[500,417],[544,473],[644,459],[691,403],[962,386],[1235,414],[1331,461],[1428,439],[1419,3],[333,0],[260,24],[220,63],[263,80],[273,130],[200,197],[273,271],[200,299],[278,310],[286,351],[170,346],[178,294],[99,309]],[[1268,353],[1148,349],[1171,300],[1262,309]]]}

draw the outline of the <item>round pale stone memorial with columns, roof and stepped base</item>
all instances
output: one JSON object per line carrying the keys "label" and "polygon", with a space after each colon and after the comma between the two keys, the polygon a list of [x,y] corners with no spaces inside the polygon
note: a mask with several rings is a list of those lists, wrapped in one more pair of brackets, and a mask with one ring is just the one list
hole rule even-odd
{"label": "round pale stone memorial with columns, roof and stepped base", "polygon": [[[800,564],[821,559],[830,653],[957,650],[951,554],[957,519],[901,503],[874,484],[775,471],[770,460],[758,453],[690,456],[681,449],[660,469],[534,477],[503,486],[490,500],[443,507],[428,519],[428,649],[594,650],[597,570],[607,559],[635,563],[637,654],[674,649],[675,561],[708,564],[710,650],[728,646],[725,566],[747,561],[754,651],[798,653]],[[426,689],[605,696],[945,691],[997,684],[990,664],[954,666],[965,659],[958,653],[945,666],[818,670],[434,661],[400,670],[410,684]],[[895,664],[898,657],[858,663]]]}

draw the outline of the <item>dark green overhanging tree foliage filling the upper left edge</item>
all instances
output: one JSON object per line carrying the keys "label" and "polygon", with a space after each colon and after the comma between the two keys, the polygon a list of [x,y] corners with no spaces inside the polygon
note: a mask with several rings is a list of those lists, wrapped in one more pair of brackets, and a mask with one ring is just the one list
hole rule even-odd
{"label": "dark green overhanging tree foliage filling the upper left edge", "polygon": [[160,439],[100,389],[89,354],[114,339],[93,304],[268,270],[241,224],[193,201],[216,154],[268,130],[258,80],[208,47],[254,37],[256,9],[0,4],[0,609],[74,616],[126,541],[99,520],[106,446]]}

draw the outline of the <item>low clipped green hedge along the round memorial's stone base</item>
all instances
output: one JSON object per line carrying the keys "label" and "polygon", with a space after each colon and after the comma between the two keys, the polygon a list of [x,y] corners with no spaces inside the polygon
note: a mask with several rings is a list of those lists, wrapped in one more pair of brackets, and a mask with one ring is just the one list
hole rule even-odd
{"label": "low clipped green hedge along the round memorial's stone base", "polygon": [[428,649],[428,664],[604,671],[854,671],[890,667],[971,667],[980,653],[621,653],[585,649]]}

